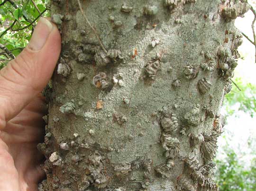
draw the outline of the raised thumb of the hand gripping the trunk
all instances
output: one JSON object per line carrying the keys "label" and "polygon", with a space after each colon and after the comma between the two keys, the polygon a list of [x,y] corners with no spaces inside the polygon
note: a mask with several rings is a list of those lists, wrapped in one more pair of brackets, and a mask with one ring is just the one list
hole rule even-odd
{"label": "raised thumb of the hand gripping the trunk", "polygon": [[57,27],[41,17],[27,47],[0,70],[0,130],[43,90],[60,51]]}

